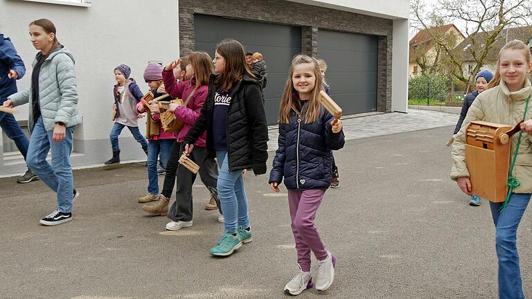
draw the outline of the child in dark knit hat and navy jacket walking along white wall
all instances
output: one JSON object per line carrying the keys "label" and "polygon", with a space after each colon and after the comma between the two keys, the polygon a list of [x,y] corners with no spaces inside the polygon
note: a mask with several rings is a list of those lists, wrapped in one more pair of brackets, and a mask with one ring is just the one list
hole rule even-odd
{"label": "child in dark knit hat and navy jacket walking along white wall", "polygon": [[116,85],[113,88],[114,105],[113,116],[114,125],[111,130],[109,138],[111,139],[111,146],[113,149],[113,157],[105,161],[105,165],[112,165],[120,163],[120,147],[118,147],[118,136],[122,129],[127,127],[136,142],[140,143],[142,150],[148,155],[148,142],[139,131],[138,118],[142,118],[143,114],[136,111],[136,104],[141,101],[143,93],[135,80],[130,78],[131,69],[125,64],[121,64],[114,68],[114,79]]}

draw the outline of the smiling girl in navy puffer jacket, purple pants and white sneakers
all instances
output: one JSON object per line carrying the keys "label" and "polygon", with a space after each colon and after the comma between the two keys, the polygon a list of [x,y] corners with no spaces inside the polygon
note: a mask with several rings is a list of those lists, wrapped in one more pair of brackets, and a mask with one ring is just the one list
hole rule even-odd
{"label": "smiling girl in navy puffer jacket, purple pants and white sneakers", "polygon": [[335,256],[326,250],[314,226],[314,217],[331,181],[332,149],[344,147],[342,123],[319,104],[322,87],[317,60],[297,55],[292,60],[279,116],[278,149],[269,183],[275,192],[285,177],[292,233],[296,241],[298,274],[285,292],[298,295],[314,286],[310,251],[316,255],[316,289],[330,287]]}

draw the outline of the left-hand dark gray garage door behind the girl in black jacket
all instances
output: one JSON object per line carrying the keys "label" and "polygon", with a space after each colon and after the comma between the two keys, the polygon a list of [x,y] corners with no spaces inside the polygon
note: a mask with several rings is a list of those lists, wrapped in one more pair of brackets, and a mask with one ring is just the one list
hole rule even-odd
{"label": "left-hand dark gray garage door behind the girl in black jacket", "polygon": [[196,50],[206,51],[211,57],[216,44],[227,38],[238,40],[246,51],[264,55],[268,71],[266,117],[269,125],[276,124],[290,62],[301,53],[301,28],[196,14],[194,33]]}

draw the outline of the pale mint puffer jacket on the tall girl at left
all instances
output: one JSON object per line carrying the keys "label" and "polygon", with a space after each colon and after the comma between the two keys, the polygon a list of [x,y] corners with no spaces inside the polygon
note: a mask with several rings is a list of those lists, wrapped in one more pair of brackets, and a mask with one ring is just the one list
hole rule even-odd
{"label": "pale mint puffer jacket on the tall girl at left", "polygon": [[[40,53],[40,52],[39,52]],[[39,54],[37,54],[39,55]],[[37,58],[33,60],[33,67]],[[31,87],[8,97],[14,106],[29,102],[32,106]],[[39,72],[39,107],[46,131],[53,130],[55,123],[73,127],[81,123],[78,112],[78,82],[74,71],[74,57],[63,47],[51,53],[42,63]],[[28,127],[33,130],[33,111],[30,110]]]}

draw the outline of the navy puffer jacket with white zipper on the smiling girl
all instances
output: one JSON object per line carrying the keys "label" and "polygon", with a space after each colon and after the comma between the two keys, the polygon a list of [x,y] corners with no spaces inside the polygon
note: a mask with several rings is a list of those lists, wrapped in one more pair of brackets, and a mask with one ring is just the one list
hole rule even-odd
{"label": "navy puffer jacket with white zipper on the smiling girl", "polygon": [[292,109],[289,122],[279,124],[278,149],[269,183],[281,183],[284,176],[288,190],[329,188],[331,150],[341,149],[345,143],[343,130],[332,133],[332,120],[333,116],[323,107],[313,123],[305,123],[299,112]]}

